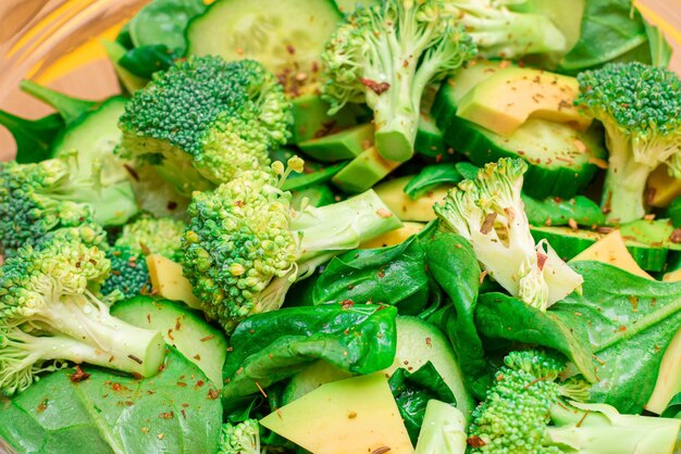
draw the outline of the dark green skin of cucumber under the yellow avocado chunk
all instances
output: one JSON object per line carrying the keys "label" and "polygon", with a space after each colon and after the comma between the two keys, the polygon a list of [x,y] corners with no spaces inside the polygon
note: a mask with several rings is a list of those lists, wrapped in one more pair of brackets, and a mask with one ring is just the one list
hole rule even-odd
{"label": "dark green skin of cucumber under the yellow avocado chunk", "polygon": [[[443,131],[445,143],[453,147],[458,153],[468,156],[478,166],[488,162],[496,162],[502,157],[519,157],[517,153],[499,148],[486,137],[481,126],[456,115],[456,106],[448,97],[449,85],[445,83],[437,93],[431,114]],[[471,152],[471,150],[487,150],[487,152]],[[595,164],[585,164],[581,172],[568,167],[546,168],[528,163],[524,174],[523,191],[536,199],[557,196],[570,199],[583,190],[594,177],[598,167]]]}

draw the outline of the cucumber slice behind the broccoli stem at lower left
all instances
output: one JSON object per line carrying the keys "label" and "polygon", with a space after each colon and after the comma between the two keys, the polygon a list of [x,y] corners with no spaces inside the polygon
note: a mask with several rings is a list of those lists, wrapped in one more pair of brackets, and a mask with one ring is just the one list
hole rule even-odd
{"label": "cucumber slice behind the broccoli stem at lower left", "polygon": [[165,343],[176,348],[209,380],[222,387],[227,341],[224,333],[209,325],[200,312],[169,300],[135,297],[116,303],[111,308],[111,315],[139,328],[161,331]]}

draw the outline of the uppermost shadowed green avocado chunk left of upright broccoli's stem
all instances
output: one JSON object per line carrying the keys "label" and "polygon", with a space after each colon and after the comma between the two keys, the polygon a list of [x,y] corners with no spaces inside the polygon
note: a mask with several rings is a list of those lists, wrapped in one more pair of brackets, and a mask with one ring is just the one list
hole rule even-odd
{"label": "uppermost shadowed green avocado chunk left of upright broccoli's stem", "polygon": [[329,115],[330,105],[318,93],[301,94],[293,100],[294,125],[292,143],[300,143],[315,137],[357,125],[361,108],[348,104],[335,115]]}

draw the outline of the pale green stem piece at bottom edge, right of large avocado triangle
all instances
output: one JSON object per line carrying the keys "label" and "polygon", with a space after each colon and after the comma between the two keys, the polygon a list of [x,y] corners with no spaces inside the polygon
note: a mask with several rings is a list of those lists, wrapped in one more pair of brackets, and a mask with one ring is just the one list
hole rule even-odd
{"label": "pale green stem piece at bottom edge, right of large avocado triangle", "polygon": [[456,407],[434,399],[428,401],[414,454],[465,454],[466,418]]}

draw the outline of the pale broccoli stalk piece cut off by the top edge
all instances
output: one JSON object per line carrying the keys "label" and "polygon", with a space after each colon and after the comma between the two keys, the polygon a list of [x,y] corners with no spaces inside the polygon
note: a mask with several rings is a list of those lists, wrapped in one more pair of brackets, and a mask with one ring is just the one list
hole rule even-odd
{"label": "pale broccoli stalk piece cut off by the top edge", "polygon": [[444,0],[486,59],[517,59],[533,53],[567,52],[565,35],[521,1]]}

